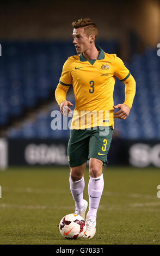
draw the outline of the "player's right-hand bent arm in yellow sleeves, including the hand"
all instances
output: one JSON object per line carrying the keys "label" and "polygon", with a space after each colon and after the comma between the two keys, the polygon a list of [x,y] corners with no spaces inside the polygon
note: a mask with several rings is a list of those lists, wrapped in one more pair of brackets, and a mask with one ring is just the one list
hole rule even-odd
{"label": "player's right-hand bent arm in yellow sleeves, including the hand", "polygon": [[136,81],[122,60],[116,56],[114,75],[118,77],[120,81],[125,83],[125,101],[124,103],[119,103],[118,105],[113,106],[114,109],[120,108],[118,112],[114,113],[114,117],[125,120],[130,114],[134,96],[136,94]]}

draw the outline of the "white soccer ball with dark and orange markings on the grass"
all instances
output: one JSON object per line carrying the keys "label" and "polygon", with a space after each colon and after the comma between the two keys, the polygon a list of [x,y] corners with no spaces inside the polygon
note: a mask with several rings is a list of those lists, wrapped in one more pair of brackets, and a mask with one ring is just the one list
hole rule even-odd
{"label": "white soccer ball with dark and orange markings on the grass", "polygon": [[77,214],[64,216],[59,223],[60,234],[66,239],[79,239],[86,231],[84,218]]}

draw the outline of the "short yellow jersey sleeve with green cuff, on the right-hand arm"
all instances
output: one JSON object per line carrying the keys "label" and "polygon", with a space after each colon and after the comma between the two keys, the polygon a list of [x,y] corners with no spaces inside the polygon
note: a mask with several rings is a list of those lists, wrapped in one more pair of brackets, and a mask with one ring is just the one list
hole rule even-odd
{"label": "short yellow jersey sleeve with green cuff, on the right-hand arm", "polygon": [[130,71],[126,68],[124,62],[116,56],[114,63],[114,76],[116,76],[120,81],[124,82],[129,76]]}

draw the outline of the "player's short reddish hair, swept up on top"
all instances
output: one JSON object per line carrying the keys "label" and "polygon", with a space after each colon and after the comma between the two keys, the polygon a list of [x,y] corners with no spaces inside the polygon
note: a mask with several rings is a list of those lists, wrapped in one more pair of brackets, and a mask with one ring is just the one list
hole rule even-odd
{"label": "player's short reddish hair, swept up on top", "polygon": [[85,19],[79,19],[78,21],[73,21],[72,22],[73,28],[82,28],[84,27],[84,31],[89,35],[95,35],[95,39],[98,35],[98,29],[96,27],[95,22],[93,22],[90,18],[85,18]]}

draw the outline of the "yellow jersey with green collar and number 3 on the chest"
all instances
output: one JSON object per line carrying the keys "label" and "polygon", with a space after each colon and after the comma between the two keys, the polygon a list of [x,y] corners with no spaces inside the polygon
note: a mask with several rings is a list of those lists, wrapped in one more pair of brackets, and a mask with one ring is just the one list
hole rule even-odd
{"label": "yellow jersey with green collar and number 3 on the chest", "polygon": [[[67,92],[72,86],[75,94],[71,129],[87,129],[95,126],[114,128],[115,77],[124,82],[131,76],[130,71],[116,54],[108,54],[99,46],[96,48],[99,51],[96,60],[87,60],[81,53],[69,57],[63,66],[58,88]],[[57,93],[56,100],[60,105],[66,100],[65,95],[58,97]],[[132,107],[132,102],[129,107]]]}

